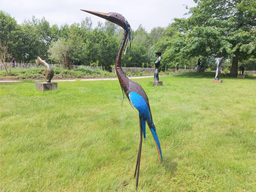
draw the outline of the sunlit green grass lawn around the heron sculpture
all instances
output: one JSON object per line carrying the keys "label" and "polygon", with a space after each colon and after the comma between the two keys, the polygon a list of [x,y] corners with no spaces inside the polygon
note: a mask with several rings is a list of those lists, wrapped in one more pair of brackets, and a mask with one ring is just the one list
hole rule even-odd
{"label": "sunlit green grass lawn around the heron sculpture", "polygon": [[[146,128],[138,191],[256,191],[256,79],[179,73],[135,79]],[[1,84],[1,191],[134,191],[139,115],[118,80]]]}

